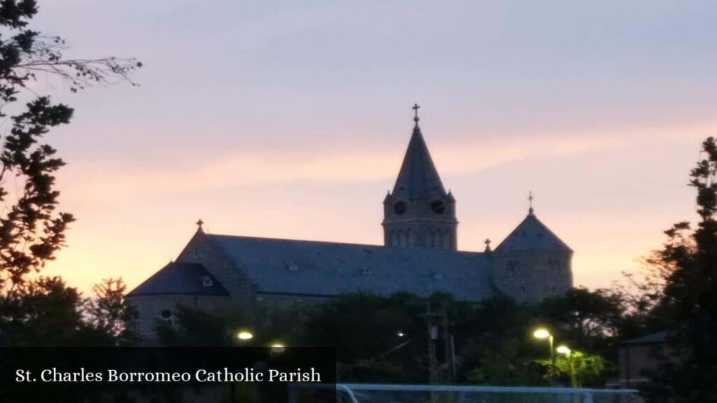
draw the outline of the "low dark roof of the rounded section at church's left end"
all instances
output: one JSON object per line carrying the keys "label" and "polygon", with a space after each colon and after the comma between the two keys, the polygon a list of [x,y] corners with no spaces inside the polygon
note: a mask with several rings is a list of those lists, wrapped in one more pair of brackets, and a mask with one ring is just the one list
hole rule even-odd
{"label": "low dark roof of the rounded section at church's left end", "polygon": [[[209,281],[206,281],[206,280]],[[138,295],[229,295],[222,283],[219,283],[206,270],[204,265],[186,262],[170,262],[154,273],[127,294]]]}

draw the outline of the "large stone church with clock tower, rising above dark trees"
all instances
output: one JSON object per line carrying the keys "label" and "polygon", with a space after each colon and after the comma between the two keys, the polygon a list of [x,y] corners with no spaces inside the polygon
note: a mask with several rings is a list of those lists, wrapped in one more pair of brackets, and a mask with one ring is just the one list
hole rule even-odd
{"label": "large stone church with clock tower, rising above dark trees", "polygon": [[[457,250],[456,199],[432,161],[418,105],[408,149],[384,198],[384,245],[196,233],[174,262],[128,293],[140,333],[172,321],[178,304],[217,310],[254,303],[303,303],[341,293],[421,296],[451,293],[478,301],[502,293],[531,303],[572,286],[573,251],[533,207],[500,245]],[[532,199],[532,197],[531,197]]]}

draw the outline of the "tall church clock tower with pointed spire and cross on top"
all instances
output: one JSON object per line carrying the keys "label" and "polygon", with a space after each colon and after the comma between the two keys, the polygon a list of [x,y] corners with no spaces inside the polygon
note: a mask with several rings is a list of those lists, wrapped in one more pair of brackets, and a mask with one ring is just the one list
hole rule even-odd
{"label": "tall church clock tower with pointed spire and cross on top", "polygon": [[384,199],[384,243],[456,250],[455,199],[446,193],[426,141],[414,128],[394,190]]}

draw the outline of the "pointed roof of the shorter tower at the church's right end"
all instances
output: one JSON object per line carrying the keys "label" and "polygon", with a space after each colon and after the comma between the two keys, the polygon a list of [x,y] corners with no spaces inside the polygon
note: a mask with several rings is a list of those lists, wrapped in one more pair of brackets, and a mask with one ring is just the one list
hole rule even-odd
{"label": "pointed roof of the shorter tower at the church's right end", "polygon": [[508,237],[500,242],[495,252],[530,252],[537,250],[551,250],[572,252],[565,242],[554,234],[532,212],[518,224]]}

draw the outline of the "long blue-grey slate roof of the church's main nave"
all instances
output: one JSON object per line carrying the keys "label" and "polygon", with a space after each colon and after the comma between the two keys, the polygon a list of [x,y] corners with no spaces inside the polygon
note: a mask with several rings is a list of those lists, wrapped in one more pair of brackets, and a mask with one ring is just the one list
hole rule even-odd
{"label": "long blue-grey slate roof of the church's main nave", "polygon": [[205,234],[259,293],[338,295],[407,291],[452,293],[459,300],[493,294],[489,257],[478,252],[384,247]]}

